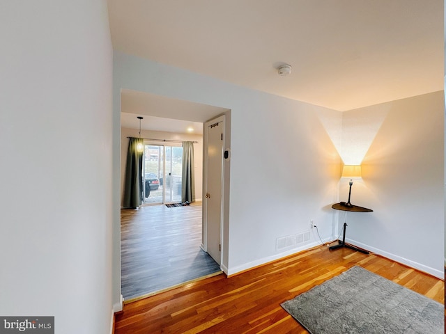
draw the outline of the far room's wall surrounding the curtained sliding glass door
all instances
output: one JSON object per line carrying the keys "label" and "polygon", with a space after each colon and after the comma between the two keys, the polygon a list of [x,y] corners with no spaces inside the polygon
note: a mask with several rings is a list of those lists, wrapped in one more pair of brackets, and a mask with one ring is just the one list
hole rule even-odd
{"label": "far room's wall surrounding the curtained sliding glass door", "polygon": [[[139,129],[121,128],[121,207],[124,198],[125,165],[127,164],[128,137],[139,137]],[[194,177],[195,177],[195,199],[202,199],[203,186],[203,136],[198,134],[174,134],[171,132],[141,130],[141,138],[166,139],[171,141],[197,141],[194,143]],[[162,142],[154,141],[154,144]],[[169,145],[169,143],[166,143]],[[178,144],[176,144],[178,145]],[[179,144],[181,145],[181,144]]]}

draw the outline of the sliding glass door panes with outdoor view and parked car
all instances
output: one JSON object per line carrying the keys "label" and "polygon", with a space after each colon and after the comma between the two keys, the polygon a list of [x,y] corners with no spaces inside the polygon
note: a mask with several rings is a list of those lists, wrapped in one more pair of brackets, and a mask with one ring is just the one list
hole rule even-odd
{"label": "sliding glass door panes with outdoor view and parked car", "polygon": [[180,146],[145,145],[144,203],[181,202],[182,161]]}

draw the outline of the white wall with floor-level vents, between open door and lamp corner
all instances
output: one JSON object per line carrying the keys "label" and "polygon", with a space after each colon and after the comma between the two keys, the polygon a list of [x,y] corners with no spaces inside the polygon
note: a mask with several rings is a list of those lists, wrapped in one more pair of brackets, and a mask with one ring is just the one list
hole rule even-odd
{"label": "white wall with floor-level vents, between open door and lamp corner", "polygon": [[[232,109],[229,273],[275,260],[276,239],[318,225],[332,239],[340,159],[320,108],[259,94]],[[337,113],[332,111],[332,113]]]}

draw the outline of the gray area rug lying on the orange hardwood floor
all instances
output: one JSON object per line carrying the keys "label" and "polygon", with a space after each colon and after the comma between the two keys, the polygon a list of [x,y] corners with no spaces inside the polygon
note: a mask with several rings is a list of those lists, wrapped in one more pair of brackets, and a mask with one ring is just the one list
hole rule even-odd
{"label": "gray area rug lying on the orange hardwood floor", "polygon": [[445,333],[444,305],[361,267],[282,303],[307,331]]}

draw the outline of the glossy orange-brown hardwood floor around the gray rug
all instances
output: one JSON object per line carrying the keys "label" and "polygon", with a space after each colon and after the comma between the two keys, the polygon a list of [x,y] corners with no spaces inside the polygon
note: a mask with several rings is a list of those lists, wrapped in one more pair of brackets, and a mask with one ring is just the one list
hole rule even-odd
{"label": "glossy orange-brown hardwood floor around the gray rug", "polygon": [[445,301],[443,280],[378,255],[320,246],[226,278],[200,280],[124,305],[116,334],[308,333],[280,303],[353,266]]}

